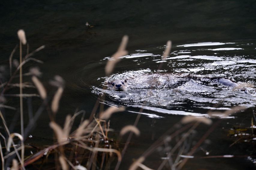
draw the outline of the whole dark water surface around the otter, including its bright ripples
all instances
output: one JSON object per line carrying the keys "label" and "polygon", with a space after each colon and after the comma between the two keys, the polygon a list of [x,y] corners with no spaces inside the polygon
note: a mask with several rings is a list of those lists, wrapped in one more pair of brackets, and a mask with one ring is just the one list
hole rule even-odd
{"label": "whole dark water surface around the otter, including its bright ripples", "polygon": [[[138,124],[141,136],[132,139],[122,166],[128,167],[132,159],[138,158],[183,115],[205,116],[216,105],[222,110],[235,105],[248,109],[223,119],[208,138],[211,144],[205,149],[209,155],[252,155],[255,154],[252,143],[229,147],[237,138],[227,134],[233,127],[250,127],[255,90],[232,91],[205,77],[222,76],[237,83],[255,84],[255,10],[254,1],[4,1],[0,5],[0,62],[8,66],[20,28],[26,31],[31,50],[46,45],[35,56],[44,64],[32,62],[24,70],[39,66],[50,94],[55,89],[47,85],[49,79],[56,74],[65,79],[66,88],[57,115],[62,123],[76,108],[86,110],[88,115],[92,111],[100,92],[97,88],[101,89],[106,79],[106,61],[124,34],[129,35],[129,55],[116,66],[113,77],[156,73],[164,44],[172,40],[172,52],[161,70],[197,78],[179,90],[170,90],[167,100],[151,97],[145,104],[141,99],[117,100],[109,96],[102,101],[106,106],[127,106],[127,111],[111,118],[111,127],[116,131],[133,124],[140,107],[144,107]],[[86,31],[86,22],[94,27]],[[15,103],[13,98],[8,101]],[[15,112],[6,115],[7,122],[11,123],[13,115]],[[34,136],[52,137],[48,119],[47,114],[40,117]],[[202,136],[208,128],[200,126],[196,136]],[[48,141],[37,142],[47,145]],[[158,154],[146,160],[145,165],[157,168],[160,157],[164,157]],[[196,155],[205,156],[205,152],[197,151]],[[248,157],[194,160],[188,161],[185,169],[255,168],[254,158]]]}

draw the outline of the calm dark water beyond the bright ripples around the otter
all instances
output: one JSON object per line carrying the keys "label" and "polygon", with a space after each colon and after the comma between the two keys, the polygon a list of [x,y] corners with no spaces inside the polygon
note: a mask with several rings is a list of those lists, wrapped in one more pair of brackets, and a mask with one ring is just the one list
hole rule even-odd
{"label": "calm dark water beyond the bright ripples around the otter", "polygon": [[[41,79],[50,92],[55,89],[47,85],[49,79],[56,74],[65,79],[66,88],[58,113],[59,123],[62,123],[65,116],[72,114],[76,108],[85,109],[87,114],[92,111],[97,96],[92,94],[91,85],[98,85],[95,84],[98,83],[95,79],[104,77],[104,66],[99,62],[116,51],[124,34],[129,35],[127,49],[130,52],[137,49],[155,50],[155,47],[163,46],[167,40],[172,40],[173,46],[236,41],[251,41],[254,44],[255,11],[255,1],[2,1],[0,64],[8,66],[9,55],[18,43],[18,29],[26,31],[31,50],[46,45],[44,50],[35,55],[44,64],[32,62],[24,70],[39,66],[43,72]],[[94,25],[89,31],[86,31],[86,22]],[[162,51],[157,52],[161,55]],[[250,56],[255,53],[254,50],[243,52]],[[18,53],[14,58],[18,58]],[[139,69],[140,65],[137,67]],[[129,63],[125,69],[129,70]],[[8,100],[14,103],[14,99]],[[215,144],[210,149],[213,155],[251,153],[247,152],[248,145],[228,148],[232,140],[227,138],[225,131],[232,127],[227,123],[241,124],[243,120],[250,122],[251,113],[247,113],[239,115],[235,120],[224,121],[217,132],[210,136]],[[6,116],[7,121],[11,122],[13,115]],[[118,131],[125,124],[133,124],[135,118],[136,114],[129,112],[114,115],[111,126]],[[139,157],[161,133],[180,118],[181,116],[167,115],[164,119],[155,120],[142,116],[138,125],[142,135],[132,141],[123,166],[130,165],[133,158]],[[52,131],[48,123],[47,115],[42,115],[33,134],[50,137],[49,133]],[[18,127],[17,124],[17,129]],[[222,127],[225,130],[221,130]],[[203,134],[205,127],[199,132]],[[152,136],[155,138],[152,139]],[[198,164],[191,161],[189,165],[193,169],[212,169],[213,166],[218,166],[216,163],[220,166],[213,169],[253,167],[250,161],[237,158],[198,160]],[[150,162],[147,165],[150,167]]]}

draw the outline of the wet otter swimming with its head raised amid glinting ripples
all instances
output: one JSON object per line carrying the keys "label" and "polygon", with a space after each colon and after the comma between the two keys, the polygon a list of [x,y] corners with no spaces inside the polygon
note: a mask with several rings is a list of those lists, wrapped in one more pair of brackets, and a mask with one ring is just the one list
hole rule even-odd
{"label": "wet otter swimming with its head raised amid glinting ripples", "polygon": [[[168,114],[168,109],[176,106],[198,109],[207,109],[217,104],[221,108],[256,106],[254,86],[244,86],[232,76],[228,78],[224,74],[167,73],[147,69],[113,74],[102,77],[100,81],[104,83],[104,88],[95,87],[92,92],[97,95],[106,94],[106,100],[128,107],[145,106],[152,111],[161,110]],[[160,109],[158,106],[168,109]],[[171,112],[176,114],[176,111]]]}

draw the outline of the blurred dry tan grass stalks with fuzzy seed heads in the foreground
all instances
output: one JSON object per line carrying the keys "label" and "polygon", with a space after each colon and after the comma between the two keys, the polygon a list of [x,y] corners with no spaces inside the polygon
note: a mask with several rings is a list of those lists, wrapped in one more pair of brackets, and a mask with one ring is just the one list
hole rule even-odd
{"label": "blurred dry tan grass stalks with fuzzy seed heads in the foreground", "polygon": [[[101,112],[97,113],[99,106],[99,100],[97,100],[94,110],[91,113],[89,119],[84,120],[84,114],[80,117],[80,114],[83,112],[75,112],[74,115],[67,115],[64,126],[57,124],[55,117],[58,114],[59,103],[65,88],[65,82],[60,76],[55,76],[54,80],[50,81],[50,85],[57,87],[57,91],[53,96],[48,96],[44,84],[38,79],[38,76],[41,75],[40,71],[36,68],[32,68],[28,75],[31,75],[32,82],[35,84],[35,87],[38,90],[38,94],[23,94],[23,88],[30,88],[29,84],[23,82],[22,79],[22,66],[27,62],[33,60],[36,62],[41,62],[35,58],[31,58],[36,52],[44,49],[45,46],[41,46],[33,52],[29,53],[29,46],[27,44],[27,54],[22,58],[22,45],[27,43],[25,32],[23,30],[18,31],[18,37],[20,39],[20,63],[17,66],[16,71],[12,72],[12,59],[14,52],[17,47],[14,48],[10,56],[10,80],[4,82],[1,87],[3,87],[2,94],[4,94],[10,87],[19,87],[19,94],[12,94],[13,96],[20,97],[20,114],[21,114],[21,134],[19,133],[10,133],[8,126],[5,122],[4,116],[0,111],[0,117],[2,119],[4,128],[7,132],[8,141],[6,142],[4,135],[1,134],[1,137],[4,139],[5,148],[2,147],[0,142],[0,154],[2,160],[2,169],[6,169],[6,164],[10,161],[13,161],[11,169],[25,169],[26,166],[34,164],[36,161],[42,160],[42,165],[47,160],[48,157],[53,157],[55,155],[56,160],[56,169],[60,167],[62,169],[108,169],[111,163],[115,163],[117,158],[116,170],[119,169],[122,158],[124,157],[125,151],[128,148],[128,145],[131,141],[132,135],[140,135],[140,130],[136,127],[140,119],[140,114],[137,115],[136,120],[133,125],[128,125],[122,128],[120,131],[119,140],[121,141],[122,137],[129,132],[129,136],[126,139],[125,146],[118,148],[119,145],[115,141],[110,139],[110,121],[109,119],[115,112],[122,112],[125,110],[125,107],[115,107],[111,106],[103,110],[104,106],[101,107]],[[121,56],[127,55],[126,46],[128,43],[128,36],[122,38],[122,42],[117,50],[117,52],[112,55],[111,59],[107,62],[105,67],[105,73],[107,76],[110,76],[113,73],[114,67],[117,62],[120,61]],[[163,60],[167,58],[171,50],[171,41],[167,41],[166,48],[163,53]],[[15,60],[13,60],[15,61]],[[17,64],[16,64],[17,65]],[[162,63],[159,66],[161,69]],[[20,83],[12,84],[12,80],[15,78],[16,74],[20,72]],[[245,86],[243,86],[245,87]],[[252,87],[252,86],[246,86]],[[40,96],[42,99],[42,105],[38,108],[35,114],[32,114],[31,120],[29,120],[28,126],[25,129],[24,133],[24,124],[23,124],[23,97],[31,96]],[[52,98],[52,100],[50,100]],[[101,98],[104,99],[104,98]],[[0,106],[5,106],[5,100],[0,96]],[[8,108],[8,107],[7,107]],[[49,108],[49,109],[48,109]],[[225,112],[208,112],[212,117],[216,115],[229,116],[235,112],[241,112],[244,110],[244,107],[236,106],[227,110]],[[24,150],[24,140],[26,140],[29,131],[32,130],[32,127],[35,125],[39,116],[43,111],[46,111],[50,118],[49,126],[53,129],[54,132],[54,142],[50,146],[45,146],[43,148],[37,148],[36,152],[25,159]],[[143,109],[140,110],[142,112]],[[73,124],[75,119],[81,119],[78,127],[74,128]],[[167,159],[162,160],[159,164],[158,169],[168,167],[170,169],[182,169],[185,163],[188,161],[188,158],[193,157],[194,152],[200,147],[202,142],[207,139],[211,132],[218,126],[220,121],[216,121],[212,126],[206,131],[206,133],[201,137],[197,143],[191,147],[191,144],[188,143],[193,137],[194,130],[198,127],[200,123],[211,125],[212,120],[209,118],[197,118],[193,116],[185,116],[179,122],[174,124],[169,130],[167,130],[155,143],[150,146],[137,160],[132,163],[130,170],[135,170],[138,168],[151,170],[151,168],[146,166],[146,159],[154,154],[159,148],[164,148],[165,153],[167,154]],[[186,124],[186,125],[182,125]],[[253,125],[253,124],[252,124]],[[205,125],[203,125],[205,126]],[[14,143],[14,137],[18,137],[20,141],[15,141],[15,143],[20,144],[20,148],[16,148],[17,145]],[[176,139],[174,141],[173,139]],[[171,149],[168,150],[168,147]],[[3,152],[3,149],[6,149],[9,153]],[[21,150],[21,153],[19,151]],[[17,160],[13,159],[12,155],[16,154],[19,163]],[[142,164],[145,162],[145,165]],[[8,165],[10,166],[10,164]],[[36,166],[36,164],[34,164]],[[121,168],[120,168],[121,169]]]}

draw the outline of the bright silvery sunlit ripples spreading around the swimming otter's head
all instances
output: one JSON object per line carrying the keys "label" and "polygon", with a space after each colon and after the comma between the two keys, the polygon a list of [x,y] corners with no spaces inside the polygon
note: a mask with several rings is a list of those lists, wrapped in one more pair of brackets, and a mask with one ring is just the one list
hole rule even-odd
{"label": "bright silvery sunlit ripples spreading around the swimming otter's head", "polygon": [[[220,48],[204,49],[203,46],[220,46]],[[128,108],[140,107],[145,112],[150,110],[155,112],[154,115],[161,116],[163,114],[207,116],[205,113],[209,109],[226,110],[236,105],[254,107],[256,105],[254,88],[234,89],[235,83],[224,81],[226,84],[223,84],[223,81],[219,80],[221,77],[238,84],[256,83],[256,68],[252,65],[256,60],[253,56],[236,53],[238,49],[239,52],[252,49],[253,43],[246,48],[230,46],[243,45],[238,42],[208,42],[173,47],[174,51],[167,60],[164,60],[165,65],[161,70],[156,70],[158,63],[162,62],[159,55],[161,51],[156,49],[162,50],[164,46],[145,50],[147,53],[140,50],[140,53],[122,57],[119,64],[119,67],[124,67],[122,71],[107,78],[101,78],[100,75],[98,77],[102,86],[105,86],[104,82],[110,79],[125,78],[128,81],[126,91],[102,90],[102,86],[93,86],[92,92],[97,95],[107,93],[107,103],[118,102],[119,105]],[[183,52],[189,52],[189,55],[179,55]],[[103,60],[108,59],[110,57]],[[125,63],[125,66],[122,63]],[[139,66],[134,69],[134,65]],[[178,107],[179,110],[175,110]],[[148,116],[156,117],[150,114]]]}

